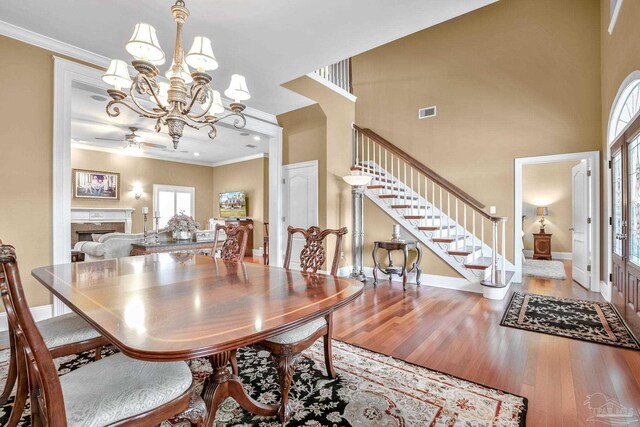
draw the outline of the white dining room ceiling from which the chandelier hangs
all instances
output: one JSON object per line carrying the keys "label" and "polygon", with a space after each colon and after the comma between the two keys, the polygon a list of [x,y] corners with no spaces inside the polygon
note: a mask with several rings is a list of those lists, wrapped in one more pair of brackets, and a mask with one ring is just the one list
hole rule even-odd
{"label": "white dining room ceiling from which the chandelier hangs", "polygon": [[[496,0],[186,0],[186,49],[212,39],[221,92],[231,74],[247,77],[259,110],[280,114],[310,104],[280,85]],[[0,19],[108,58],[124,49],[137,22],[153,25],[167,56],[175,39],[171,0],[2,0]],[[170,60],[162,68],[170,66]]]}

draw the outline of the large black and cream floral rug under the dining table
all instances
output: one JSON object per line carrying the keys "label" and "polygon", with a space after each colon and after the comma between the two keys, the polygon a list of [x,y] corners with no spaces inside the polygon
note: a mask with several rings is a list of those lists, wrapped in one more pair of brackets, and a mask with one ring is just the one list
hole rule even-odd
{"label": "large black and cream floral rug under the dining table", "polygon": [[[113,353],[109,350],[105,356]],[[303,353],[290,398],[295,406],[287,426],[523,426],[523,397],[435,372],[401,360],[334,341],[338,378],[325,376],[322,342]],[[91,352],[56,360],[64,374],[89,363]],[[7,352],[0,353],[0,384],[6,376]],[[211,372],[207,359],[189,362],[201,384]],[[240,376],[247,391],[264,403],[280,400],[269,353],[254,348],[238,352]],[[200,389],[199,389],[200,390]],[[11,402],[0,407],[0,425]],[[28,413],[28,409],[25,413]],[[23,416],[21,426],[28,426]],[[275,417],[249,414],[227,399],[216,414],[216,426],[280,426]],[[180,417],[162,427],[189,426]]]}

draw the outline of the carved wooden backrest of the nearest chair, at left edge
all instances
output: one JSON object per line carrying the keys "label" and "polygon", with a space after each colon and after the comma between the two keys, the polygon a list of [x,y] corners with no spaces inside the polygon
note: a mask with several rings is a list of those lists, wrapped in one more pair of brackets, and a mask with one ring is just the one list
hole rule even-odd
{"label": "carved wooden backrest of the nearest chair, at left edge", "polygon": [[32,420],[39,421],[34,425],[66,426],[58,371],[27,305],[13,246],[0,245],[0,263],[3,275],[0,294],[9,324],[15,332],[16,352],[26,359]]}

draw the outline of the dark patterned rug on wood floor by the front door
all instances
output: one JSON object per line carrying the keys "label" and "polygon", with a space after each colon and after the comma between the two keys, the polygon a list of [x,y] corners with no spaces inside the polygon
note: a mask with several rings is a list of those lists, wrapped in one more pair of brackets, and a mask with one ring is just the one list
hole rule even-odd
{"label": "dark patterned rug on wood floor by the front door", "polygon": [[514,292],[502,326],[640,350],[613,305]]}

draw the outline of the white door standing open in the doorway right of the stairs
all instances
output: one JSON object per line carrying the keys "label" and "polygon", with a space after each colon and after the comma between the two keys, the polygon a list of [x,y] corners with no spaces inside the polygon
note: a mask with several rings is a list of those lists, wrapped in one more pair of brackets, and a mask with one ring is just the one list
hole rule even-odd
{"label": "white door standing open in the doorway right of the stairs", "polygon": [[572,275],[573,280],[589,289],[589,177],[587,162],[571,169],[572,208]]}

